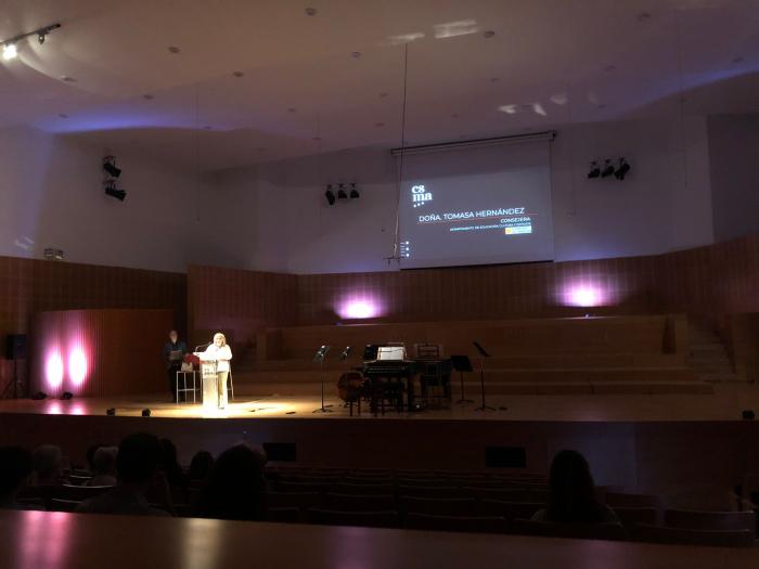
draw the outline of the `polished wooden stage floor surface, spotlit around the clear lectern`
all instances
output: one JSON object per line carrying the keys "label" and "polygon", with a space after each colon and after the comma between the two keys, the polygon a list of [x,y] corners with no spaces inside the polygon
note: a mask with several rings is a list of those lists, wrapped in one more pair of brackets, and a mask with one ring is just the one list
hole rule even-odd
{"label": "polished wooden stage floor surface, spotlit around the clear lectern", "polygon": [[[319,387],[314,387],[318,392]],[[711,395],[593,395],[593,396],[493,396],[487,403],[496,411],[476,411],[475,403],[455,404],[450,409],[397,413],[386,410],[380,418],[419,421],[551,421],[551,422],[678,422],[736,421],[745,409],[759,410],[759,386],[748,384],[715,385]],[[327,397],[330,413],[313,413],[321,404],[319,397],[261,395],[237,397],[226,411],[207,413],[200,404],[173,404],[168,396],[153,393],[114,398],[74,398],[68,401],[29,399],[0,401],[0,413],[41,415],[105,415],[115,408],[118,416],[141,416],[150,409],[152,417],[170,418],[375,418],[362,405],[362,413],[349,415],[336,397]]]}

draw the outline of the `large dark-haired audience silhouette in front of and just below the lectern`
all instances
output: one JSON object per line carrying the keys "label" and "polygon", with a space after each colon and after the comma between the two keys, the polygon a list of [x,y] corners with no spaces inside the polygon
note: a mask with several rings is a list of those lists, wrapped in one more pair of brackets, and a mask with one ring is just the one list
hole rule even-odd
{"label": "large dark-haired audience silhouette in front of and just below the lectern", "polygon": [[246,444],[222,452],[201,489],[197,515],[205,518],[255,520],[263,512],[266,455]]}

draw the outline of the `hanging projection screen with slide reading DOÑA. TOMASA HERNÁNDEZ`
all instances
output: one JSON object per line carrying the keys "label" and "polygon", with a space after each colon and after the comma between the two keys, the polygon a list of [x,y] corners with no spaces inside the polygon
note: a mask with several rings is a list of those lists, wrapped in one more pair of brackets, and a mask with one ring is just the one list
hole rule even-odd
{"label": "hanging projection screen with slide reading DO\u00d1A. TOMASA HERN\u00c1NDEZ", "polygon": [[553,259],[548,143],[409,161],[401,268]]}

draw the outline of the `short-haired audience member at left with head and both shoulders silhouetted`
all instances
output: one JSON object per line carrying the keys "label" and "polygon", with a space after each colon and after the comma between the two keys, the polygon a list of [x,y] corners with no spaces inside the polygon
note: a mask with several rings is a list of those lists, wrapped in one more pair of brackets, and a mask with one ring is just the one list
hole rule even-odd
{"label": "short-haired audience member at left with head and both shoulders silhouetted", "polygon": [[116,455],[117,483],[113,490],[79,505],[77,512],[88,514],[129,514],[168,516],[168,512],[147,504],[145,492],[160,478],[162,447],[146,432],[126,437]]}

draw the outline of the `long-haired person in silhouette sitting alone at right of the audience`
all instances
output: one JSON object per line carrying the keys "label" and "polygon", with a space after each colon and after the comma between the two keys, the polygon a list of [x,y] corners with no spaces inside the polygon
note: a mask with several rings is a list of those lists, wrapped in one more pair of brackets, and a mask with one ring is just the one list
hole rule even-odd
{"label": "long-haired person in silhouette sitting alone at right of the audience", "polygon": [[619,522],[614,512],[596,499],[588,461],[577,451],[561,451],[553,457],[548,507],[536,513],[532,520],[557,523]]}

